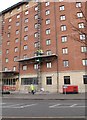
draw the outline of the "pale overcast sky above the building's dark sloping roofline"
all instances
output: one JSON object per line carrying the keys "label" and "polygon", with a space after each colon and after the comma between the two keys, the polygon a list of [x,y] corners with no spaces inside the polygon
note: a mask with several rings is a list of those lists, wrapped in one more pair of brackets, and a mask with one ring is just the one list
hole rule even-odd
{"label": "pale overcast sky above the building's dark sloping roofline", "polygon": [[0,0],[0,12],[20,1],[21,0]]}

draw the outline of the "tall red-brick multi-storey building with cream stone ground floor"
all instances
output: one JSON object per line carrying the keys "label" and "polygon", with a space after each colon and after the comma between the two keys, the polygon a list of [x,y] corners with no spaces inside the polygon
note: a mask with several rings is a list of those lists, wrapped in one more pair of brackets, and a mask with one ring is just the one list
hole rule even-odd
{"label": "tall red-brick multi-storey building with cream stone ground floor", "polygon": [[[3,85],[62,92],[63,85],[87,84],[86,2],[19,2],[2,11]],[[83,14],[84,13],[84,14]]]}

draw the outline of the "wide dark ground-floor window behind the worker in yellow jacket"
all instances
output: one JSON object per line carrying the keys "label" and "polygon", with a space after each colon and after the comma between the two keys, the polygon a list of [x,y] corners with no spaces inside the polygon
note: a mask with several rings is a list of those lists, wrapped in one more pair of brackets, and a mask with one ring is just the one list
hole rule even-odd
{"label": "wide dark ground-floor window behind the worker in yellow jacket", "polygon": [[33,78],[21,78],[21,85],[38,85],[38,79],[37,77]]}

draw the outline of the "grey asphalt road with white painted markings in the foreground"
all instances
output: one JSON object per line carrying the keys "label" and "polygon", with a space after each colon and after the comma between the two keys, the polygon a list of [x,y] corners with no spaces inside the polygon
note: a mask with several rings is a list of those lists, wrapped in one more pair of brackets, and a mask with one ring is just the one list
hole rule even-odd
{"label": "grey asphalt road with white painted markings in the foreground", "polygon": [[29,117],[84,117],[84,100],[10,100],[4,99],[2,116]]}

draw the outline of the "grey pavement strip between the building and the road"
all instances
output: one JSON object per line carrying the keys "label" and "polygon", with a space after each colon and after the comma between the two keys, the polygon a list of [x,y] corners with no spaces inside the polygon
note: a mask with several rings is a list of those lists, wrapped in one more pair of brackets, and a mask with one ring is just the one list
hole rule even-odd
{"label": "grey pavement strip between the building and the road", "polygon": [[49,92],[36,92],[34,95],[27,92],[11,92],[11,94],[3,94],[3,99],[28,99],[28,100],[87,100],[85,93],[78,94],[62,94]]}

